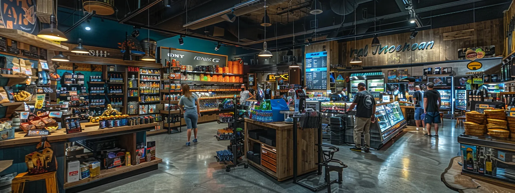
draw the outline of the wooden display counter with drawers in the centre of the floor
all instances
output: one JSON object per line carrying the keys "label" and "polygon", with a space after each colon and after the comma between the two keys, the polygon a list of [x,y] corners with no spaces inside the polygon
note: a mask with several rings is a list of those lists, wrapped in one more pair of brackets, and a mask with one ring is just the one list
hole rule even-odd
{"label": "wooden display counter with drawers in the centre of the floor", "polygon": [[[259,139],[250,138],[248,132],[255,129],[275,130],[276,146],[270,146]],[[317,170],[317,132],[316,129],[298,131],[298,174]],[[260,122],[245,118],[245,152],[252,151],[254,144],[260,144],[261,163],[249,160],[248,163],[267,173],[277,181],[293,177],[293,124],[284,122]],[[257,153],[257,152],[255,152]]]}

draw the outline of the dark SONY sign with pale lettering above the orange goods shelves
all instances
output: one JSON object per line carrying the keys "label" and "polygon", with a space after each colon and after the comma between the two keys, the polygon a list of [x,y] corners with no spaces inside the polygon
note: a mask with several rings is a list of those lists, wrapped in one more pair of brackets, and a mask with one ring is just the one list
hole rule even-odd
{"label": "dark SONY sign with pale lettering above the orange goods shelves", "polygon": [[184,50],[168,50],[167,48],[160,47],[161,51],[158,53],[158,58],[161,63],[165,64],[166,61],[176,59],[181,62],[181,65],[202,66],[202,65],[218,65],[220,67],[226,66],[227,56],[213,55],[208,53],[200,53]]}

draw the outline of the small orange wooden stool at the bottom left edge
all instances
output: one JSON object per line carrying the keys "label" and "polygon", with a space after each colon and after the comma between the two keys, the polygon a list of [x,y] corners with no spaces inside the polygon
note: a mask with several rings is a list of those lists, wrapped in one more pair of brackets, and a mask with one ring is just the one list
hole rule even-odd
{"label": "small orange wooden stool at the bottom left edge", "polygon": [[57,193],[57,179],[55,171],[36,175],[29,175],[28,172],[20,173],[12,179],[12,192],[23,192],[25,182],[37,180],[45,180],[47,193]]}

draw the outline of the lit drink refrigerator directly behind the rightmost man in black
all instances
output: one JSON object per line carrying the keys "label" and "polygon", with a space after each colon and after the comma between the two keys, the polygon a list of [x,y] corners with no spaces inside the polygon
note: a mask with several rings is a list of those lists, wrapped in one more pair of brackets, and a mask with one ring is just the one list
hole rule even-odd
{"label": "lit drink refrigerator directly behind the rightmost man in black", "polygon": [[454,115],[454,86],[453,77],[428,77],[428,82],[435,84],[434,89],[440,93],[441,104],[440,113],[443,113],[443,118],[453,118]]}

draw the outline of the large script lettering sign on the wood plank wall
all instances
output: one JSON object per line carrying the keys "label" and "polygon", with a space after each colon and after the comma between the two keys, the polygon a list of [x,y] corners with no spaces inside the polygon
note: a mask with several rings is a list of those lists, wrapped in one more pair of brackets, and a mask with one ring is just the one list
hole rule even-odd
{"label": "large script lettering sign on the wood plank wall", "polygon": [[[393,52],[401,52],[401,51],[415,51],[415,50],[427,50],[427,49],[433,49],[433,46],[435,45],[435,41],[430,42],[420,42],[420,43],[414,43],[414,44],[408,44],[407,42],[403,45],[377,45],[372,46],[375,48],[372,48],[372,55],[381,55],[387,54],[387,53],[393,53]],[[351,49],[351,53],[349,55],[349,58],[354,57],[354,54],[357,54],[358,57],[366,57],[368,56],[368,45],[365,45],[364,48],[361,49]]]}

